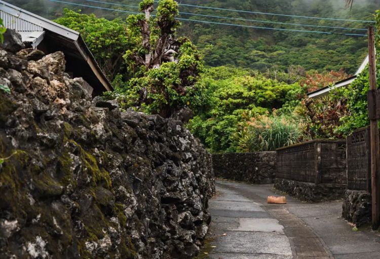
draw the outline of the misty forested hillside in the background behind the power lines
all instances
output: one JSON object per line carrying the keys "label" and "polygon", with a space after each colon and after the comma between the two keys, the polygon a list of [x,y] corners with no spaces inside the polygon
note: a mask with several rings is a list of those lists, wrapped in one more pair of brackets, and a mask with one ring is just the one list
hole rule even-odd
{"label": "misty forested hillside in the background behind the power lines", "polygon": [[[13,0],[11,2],[12,4],[50,19],[60,17],[63,13],[63,8],[73,10],[81,9],[82,13],[94,13],[97,17],[105,17],[107,19],[119,17],[122,21],[125,21],[125,18],[128,16],[128,13],[125,12],[75,6],[49,0]],[[133,6],[137,7],[138,5],[138,1],[136,0],[100,1],[117,3],[119,5],[108,5],[92,0],[63,0],[63,2],[138,12],[138,9],[133,8]],[[345,8],[344,2],[344,0],[185,0],[180,4],[286,15],[358,20],[373,20],[373,13],[376,7],[378,8],[377,0],[357,0],[352,10]],[[272,22],[366,28],[366,24],[358,22],[231,12],[184,5],[179,6],[179,11],[180,18],[259,27],[354,34],[365,34],[365,31],[295,26]],[[200,14],[230,17],[234,19],[199,16]],[[265,20],[270,22],[253,22],[241,19]],[[267,69],[277,71],[286,70],[290,65],[301,65],[306,70],[316,69],[321,72],[323,70],[340,70],[340,68],[343,68],[348,73],[354,73],[366,54],[366,38],[364,36],[264,30],[192,21],[182,21],[182,27],[179,29],[179,33],[189,36],[193,43],[201,50],[207,49],[205,61],[206,64],[211,66],[234,65],[260,71],[266,71]]]}

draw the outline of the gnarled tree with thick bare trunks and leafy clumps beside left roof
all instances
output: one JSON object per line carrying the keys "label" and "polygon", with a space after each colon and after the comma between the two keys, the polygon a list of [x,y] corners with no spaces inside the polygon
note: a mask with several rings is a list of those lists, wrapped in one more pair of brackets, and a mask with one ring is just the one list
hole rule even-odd
{"label": "gnarled tree with thick bare trunks and leafy clumps beside left roof", "polygon": [[190,108],[203,103],[204,88],[199,84],[203,54],[188,39],[176,38],[180,26],[175,19],[177,2],[160,0],[155,18],[151,16],[153,4],[153,0],[144,0],[139,5],[144,14],[128,17],[129,37],[136,45],[124,58],[134,78],[115,82],[119,100],[125,107],[165,118],[179,119],[185,110],[188,119]]}

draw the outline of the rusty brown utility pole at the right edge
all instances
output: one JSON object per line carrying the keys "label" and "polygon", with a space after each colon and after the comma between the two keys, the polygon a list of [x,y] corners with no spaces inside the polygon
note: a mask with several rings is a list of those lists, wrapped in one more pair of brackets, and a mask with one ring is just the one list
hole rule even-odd
{"label": "rusty brown utility pole at the right edge", "polygon": [[371,130],[371,189],[372,189],[372,229],[380,224],[380,147],[377,121],[380,119],[380,92],[376,85],[376,57],[374,29],[368,28],[369,91],[368,115]]}

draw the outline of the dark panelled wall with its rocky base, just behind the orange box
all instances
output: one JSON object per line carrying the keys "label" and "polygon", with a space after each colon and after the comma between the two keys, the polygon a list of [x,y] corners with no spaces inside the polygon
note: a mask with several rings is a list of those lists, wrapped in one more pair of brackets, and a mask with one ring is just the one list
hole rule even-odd
{"label": "dark panelled wall with its rocky base, just behind the orange box", "polygon": [[312,140],[277,150],[275,188],[304,201],[336,200],[347,188],[346,141]]}

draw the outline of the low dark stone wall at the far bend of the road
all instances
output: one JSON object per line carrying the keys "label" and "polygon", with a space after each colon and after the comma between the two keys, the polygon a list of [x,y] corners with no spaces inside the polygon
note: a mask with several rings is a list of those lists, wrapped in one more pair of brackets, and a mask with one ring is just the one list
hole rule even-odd
{"label": "low dark stone wall at the far bend of the road", "polygon": [[215,176],[251,183],[273,183],[276,152],[213,154]]}

